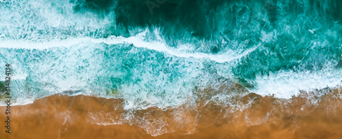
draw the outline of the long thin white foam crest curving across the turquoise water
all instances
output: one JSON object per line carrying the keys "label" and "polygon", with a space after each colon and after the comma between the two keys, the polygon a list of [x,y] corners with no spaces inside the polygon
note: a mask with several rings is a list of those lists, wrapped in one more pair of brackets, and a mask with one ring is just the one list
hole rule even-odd
{"label": "long thin white foam crest curving across the turquoise water", "polygon": [[[254,46],[248,50],[244,50],[243,52],[237,52],[233,50],[229,50],[222,54],[213,55],[207,54],[203,52],[182,52],[182,48],[188,48],[190,45],[193,44],[181,44],[179,49],[172,48],[168,46],[164,40],[159,41],[150,41],[145,40],[146,32],[142,31],[137,35],[131,37],[116,37],[111,36],[108,38],[92,38],[92,37],[80,37],[80,38],[68,38],[66,40],[50,40],[49,42],[32,42],[27,40],[5,40],[1,42],[0,47],[2,48],[25,48],[25,49],[48,49],[48,48],[55,48],[55,47],[65,47],[68,48],[70,46],[75,46],[77,44],[86,43],[86,42],[93,42],[93,43],[105,43],[105,44],[133,44],[133,46],[140,47],[140,48],[148,48],[150,50],[157,50],[159,52],[166,52],[170,55],[174,55],[175,57],[193,57],[196,59],[211,59],[218,63],[224,63],[228,61],[233,61],[235,59],[241,59],[245,55],[248,55],[250,52],[258,48],[261,44]],[[160,35],[156,34],[157,36]]]}

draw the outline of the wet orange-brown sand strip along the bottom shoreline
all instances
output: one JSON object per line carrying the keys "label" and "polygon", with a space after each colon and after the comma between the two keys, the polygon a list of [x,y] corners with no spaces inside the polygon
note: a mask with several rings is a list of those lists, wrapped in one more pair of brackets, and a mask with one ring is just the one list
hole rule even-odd
{"label": "wet orange-brown sand strip along the bottom shoreline", "polygon": [[[291,99],[250,93],[236,107],[199,101],[168,110],[124,110],[122,99],[53,95],[12,106],[1,138],[342,138],[342,90]],[[0,107],[5,121],[5,106]],[[133,115],[125,117],[124,115]],[[152,136],[153,135],[153,136]]]}

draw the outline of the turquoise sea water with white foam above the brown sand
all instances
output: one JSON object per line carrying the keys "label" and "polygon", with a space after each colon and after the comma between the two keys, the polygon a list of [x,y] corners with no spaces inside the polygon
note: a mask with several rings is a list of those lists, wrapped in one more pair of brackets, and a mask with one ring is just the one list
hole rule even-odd
{"label": "turquoise sea water with white foam above the brown sand", "polygon": [[[123,98],[125,108],[166,108],[195,102],[207,88],[216,90],[208,100],[249,92],[290,98],[341,84],[341,6],[2,1],[0,73],[11,63],[17,104],[64,93]],[[235,83],[248,91],[229,89]]]}

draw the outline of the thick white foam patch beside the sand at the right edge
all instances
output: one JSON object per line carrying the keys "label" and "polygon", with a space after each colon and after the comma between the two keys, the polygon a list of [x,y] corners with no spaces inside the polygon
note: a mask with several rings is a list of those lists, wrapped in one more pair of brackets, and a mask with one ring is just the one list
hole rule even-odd
{"label": "thick white foam patch beside the sand at the right edge", "polygon": [[[250,91],[259,95],[274,95],[279,98],[291,98],[298,95],[300,91],[313,91],[326,87],[334,88],[341,85],[342,72],[330,70],[319,72],[293,72],[280,71],[268,76],[257,76],[257,86]],[[316,94],[323,95],[323,94]]]}

